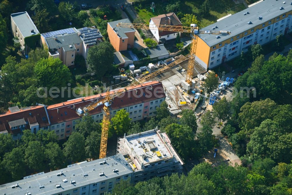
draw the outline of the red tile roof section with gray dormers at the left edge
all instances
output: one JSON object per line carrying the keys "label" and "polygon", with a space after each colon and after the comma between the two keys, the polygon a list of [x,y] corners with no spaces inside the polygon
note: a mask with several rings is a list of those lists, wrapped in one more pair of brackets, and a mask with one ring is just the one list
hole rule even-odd
{"label": "red tile roof section with gray dormers at the left edge", "polygon": [[[46,120],[43,120],[43,117]],[[18,119],[25,119],[26,122],[29,120],[34,120],[39,123],[39,127],[49,126],[48,117],[45,111],[44,106],[31,106],[25,108],[25,110],[20,110],[18,112],[6,112],[5,114],[0,114],[0,131],[5,131],[5,129],[11,134],[17,134],[20,132],[20,129],[11,130],[8,122],[15,121]],[[4,126],[5,129],[4,129]],[[25,129],[29,129],[29,124],[26,125]]]}

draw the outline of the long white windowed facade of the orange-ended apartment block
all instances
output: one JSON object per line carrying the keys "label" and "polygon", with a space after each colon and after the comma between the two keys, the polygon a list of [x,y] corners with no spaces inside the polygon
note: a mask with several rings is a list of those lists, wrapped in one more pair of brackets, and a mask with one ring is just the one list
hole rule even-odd
{"label": "long white windowed facade of the orange-ended apartment block", "polygon": [[[264,45],[274,40],[277,35],[280,35],[280,34],[284,35],[286,28],[288,28],[287,32],[289,32],[289,30],[292,28],[291,14],[289,14],[287,18],[284,18],[282,20],[280,20],[280,17],[279,17],[278,22],[269,25],[269,23],[271,22],[272,22],[271,20],[268,21],[268,25],[266,25],[265,28],[248,30],[248,31],[253,31],[254,33],[247,35],[248,31],[246,31],[244,32],[244,36],[241,37],[240,39],[234,42],[231,42],[230,44],[225,43],[223,47],[213,50],[210,53],[209,68],[212,69],[216,66],[219,66],[221,63],[223,63],[224,56],[225,56],[225,61],[231,60],[241,55],[242,51],[247,52],[248,47],[250,47],[251,45],[254,45],[254,44]],[[263,24],[263,26],[265,25]],[[224,44],[224,41],[222,44]]]}

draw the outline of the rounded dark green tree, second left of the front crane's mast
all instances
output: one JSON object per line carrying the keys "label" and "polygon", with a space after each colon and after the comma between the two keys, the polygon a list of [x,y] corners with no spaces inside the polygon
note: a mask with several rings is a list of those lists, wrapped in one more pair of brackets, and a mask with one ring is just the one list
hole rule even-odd
{"label": "rounded dark green tree, second left of the front crane's mast", "polygon": [[64,154],[72,162],[81,162],[85,158],[85,139],[79,132],[72,132],[64,144]]}

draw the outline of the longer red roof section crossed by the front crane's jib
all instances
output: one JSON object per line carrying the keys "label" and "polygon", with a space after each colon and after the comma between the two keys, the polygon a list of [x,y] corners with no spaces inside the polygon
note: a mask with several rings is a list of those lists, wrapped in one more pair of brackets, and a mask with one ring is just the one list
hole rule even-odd
{"label": "longer red roof section crossed by the front crane's jib", "polygon": [[[150,86],[153,87],[152,91],[150,91]],[[138,90],[137,95],[135,94],[136,89]],[[114,90],[111,91],[111,93],[113,92]],[[148,95],[150,94],[150,92],[152,92],[152,95]],[[102,99],[102,97],[104,96],[105,96],[105,93],[102,93],[98,95],[88,96],[84,98],[84,101],[82,101],[82,98],[78,98],[78,99],[70,100],[67,102],[48,106],[47,109],[48,109],[48,115],[50,117],[51,124],[57,124],[57,123],[81,118],[78,114],[76,114],[75,110],[77,108],[84,107],[90,104],[91,102],[95,101],[96,98]],[[138,85],[135,88],[129,89],[127,92],[124,93],[124,95],[114,98],[114,100],[112,100],[111,108],[115,110],[122,107],[127,107],[129,105],[139,104],[142,102],[147,102],[150,100],[155,100],[155,99],[159,99],[163,97],[165,97],[165,93],[163,91],[163,86],[160,82],[157,82],[157,81],[147,82],[147,83],[143,83],[142,87],[141,85]],[[75,105],[75,109],[74,109],[74,105]],[[100,105],[94,110],[91,110],[89,112],[89,115],[100,113],[102,107],[103,106]]]}

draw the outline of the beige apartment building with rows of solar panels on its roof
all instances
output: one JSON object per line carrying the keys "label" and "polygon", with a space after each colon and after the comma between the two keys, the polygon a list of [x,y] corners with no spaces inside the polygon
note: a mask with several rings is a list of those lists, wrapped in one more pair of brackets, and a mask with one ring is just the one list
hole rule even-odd
{"label": "beige apartment building with rows of solar panels on its roof", "polygon": [[49,56],[60,58],[66,66],[74,65],[75,56],[85,59],[88,48],[102,42],[102,35],[96,28],[67,28],[41,34],[41,45],[48,48]]}

